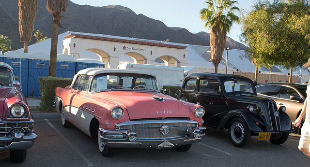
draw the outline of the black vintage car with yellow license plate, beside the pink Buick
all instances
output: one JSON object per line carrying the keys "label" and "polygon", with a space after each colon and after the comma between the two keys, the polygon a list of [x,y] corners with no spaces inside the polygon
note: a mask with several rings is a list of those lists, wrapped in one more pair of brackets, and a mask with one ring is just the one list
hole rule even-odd
{"label": "black vintage car with yellow license plate, beside the pink Buick", "polygon": [[228,129],[236,147],[245,146],[251,135],[282,144],[294,132],[285,107],[278,109],[274,100],[258,97],[254,83],[243,76],[191,73],[179,99],[202,105],[204,125]]}

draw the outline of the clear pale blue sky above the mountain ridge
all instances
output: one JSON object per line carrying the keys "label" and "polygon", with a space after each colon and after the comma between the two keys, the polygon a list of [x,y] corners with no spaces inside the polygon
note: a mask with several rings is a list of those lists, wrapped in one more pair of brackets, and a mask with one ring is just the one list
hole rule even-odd
{"label": "clear pale blue sky above the mountain ridge", "polygon": [[[186,28],[191,33],[208,32],[199,12],[205,8],[204,0],[71,0],[80,5],[108,6],[121,5],[130,8],[136,14],[143,14],[155,20],[162,21],[168,27]],[[237,7],[249,10],[254,0],[237,0]],[[235,13],[238,14],[238,13]],[[228,34],[235,41],[239,41],[240,26],[233,25]]]}

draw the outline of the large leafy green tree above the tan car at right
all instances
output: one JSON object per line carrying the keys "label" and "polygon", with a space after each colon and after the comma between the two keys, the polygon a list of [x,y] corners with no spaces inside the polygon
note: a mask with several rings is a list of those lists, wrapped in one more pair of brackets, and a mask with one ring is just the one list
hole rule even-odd
{"label": "large leafy green tree above the tan car at right", "polygon": [[240,39],[256,66],[300,68],[310,57],[310,15],[305,0],[258,1],[242,16]]}

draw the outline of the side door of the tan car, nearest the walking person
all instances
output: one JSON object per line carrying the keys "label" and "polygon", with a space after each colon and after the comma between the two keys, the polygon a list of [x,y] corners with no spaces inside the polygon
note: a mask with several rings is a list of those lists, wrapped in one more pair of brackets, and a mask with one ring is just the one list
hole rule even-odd
{"label": "side door of the tan car, nearest the walking person", "polygon": [[286,113],[294,122],[297,118],[298,112],[302,109],[304,103],[299,100],[291,100],[291,96],[300,97],[296,90],[288,86],[280,86],[279,98],[277,98],[278,108],[280,106],[286,107]]}

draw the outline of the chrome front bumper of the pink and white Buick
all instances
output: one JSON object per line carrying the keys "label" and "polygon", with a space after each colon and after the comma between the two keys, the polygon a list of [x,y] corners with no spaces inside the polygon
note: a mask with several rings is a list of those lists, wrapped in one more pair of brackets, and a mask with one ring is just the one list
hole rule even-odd
{"label": "chrome front bumper of the pink and white Buick", "polygon": [[[131,130],[106,130],[99,128],[100,138],[109,147],[113,148],[149,148],[162,149],[200,142],[205,135],[205,127],[195,127],[188,130],[187,135],[170,138],[139,138],[139,134]],[[199,134],[199,135],[197,135]]]}

